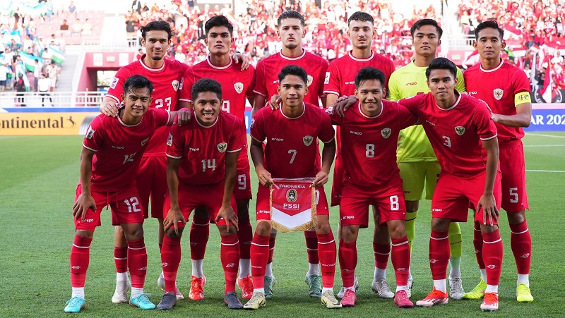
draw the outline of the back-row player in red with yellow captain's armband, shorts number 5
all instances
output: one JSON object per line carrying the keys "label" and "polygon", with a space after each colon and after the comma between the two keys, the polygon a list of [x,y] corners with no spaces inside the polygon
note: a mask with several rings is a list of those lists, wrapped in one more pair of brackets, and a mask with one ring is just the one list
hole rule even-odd
{"label": "back-row player in red with yellow captain's armband, shorts number 5", "polygon": [[[479,51],[481,63],[475,64],[463,75],[469,94],[487,102],[492,109],[492,120],[499,131],[501,206],[508,216],[510,246],[518,268],[516,299],[518,302],[532,302],[534,298],[530,292],[529,279],[532,237],[525,219],[525,209],[529,207],[521,140],[524,136],[523,127],[530,126],[532,118],[530,80],[521,69],[500,58],[501,50],[506,47],[503,36],[504,31],[496,21],[485,21],[477,25],[473,47]],[[481,271],[481,281],[464,297],[480,299],[484,296],[487,283],[482,259],[483,244],[476,225],[473,244]]]}

